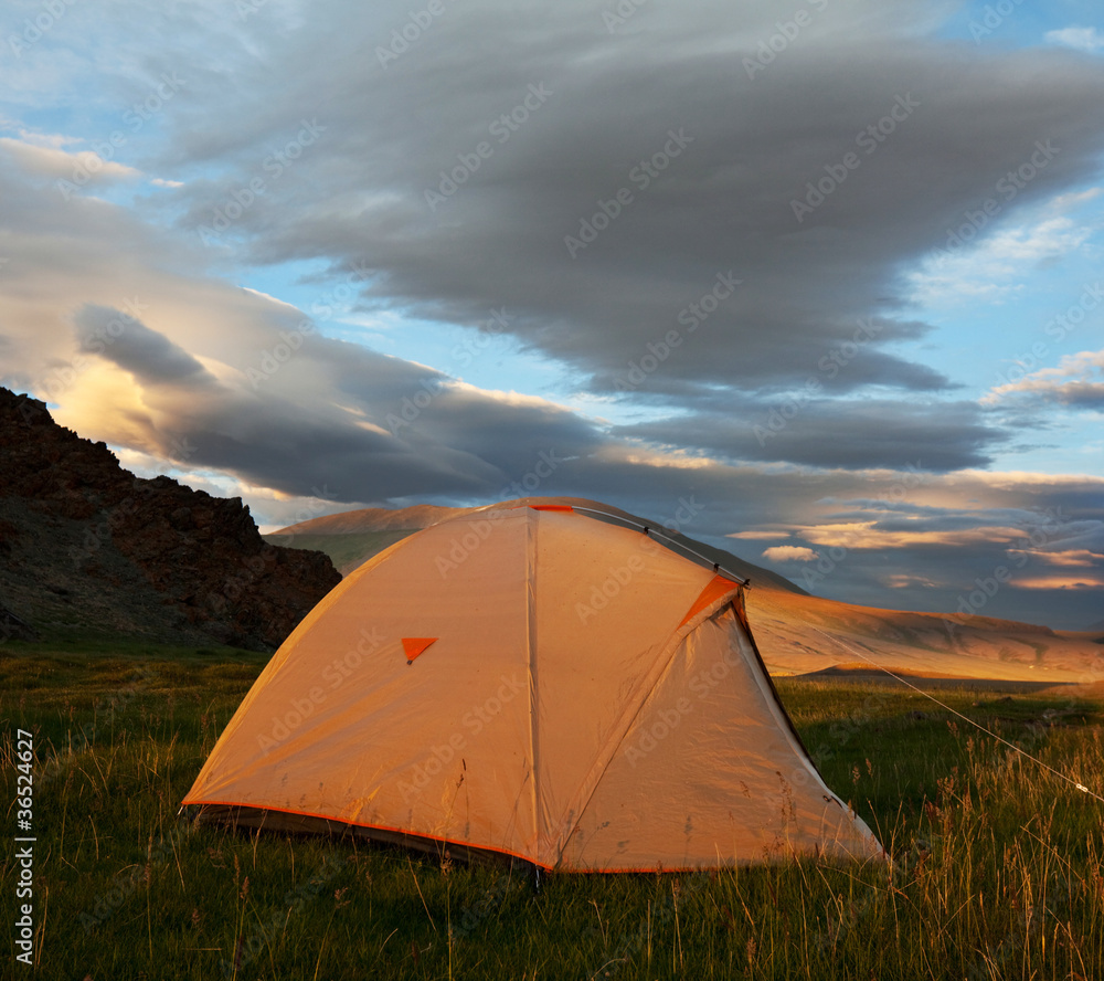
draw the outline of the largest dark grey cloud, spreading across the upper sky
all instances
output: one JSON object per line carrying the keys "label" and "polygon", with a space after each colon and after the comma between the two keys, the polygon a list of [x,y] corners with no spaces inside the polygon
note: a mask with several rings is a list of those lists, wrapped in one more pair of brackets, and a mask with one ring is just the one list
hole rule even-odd
{"label": "largest dark grey cloud, spreading across the upper sky", "polygon": [[[397,7],[341,20],[359,45],[323,36],[342,8],[317,8],[300,31],[267,39],[267,63],[287,71],[278,107],[253,65],[202,137],[180,131],[193,159],[232,145],[248,160],[220,191],[182,192],[183,223],[210,221],[235,183],[265,176],[300,118],[317,117],[317,145],[234,225],[256,259],[367,259],[369,304],[459,324],[505,304],[527,346],[598,389],[671,330],[684,342],[657,382],[793,383],[860,317],[900,308],[900,265],[945,245],[1037,141],[1053,152],[1006,213],[1087,175],[1104,146],[1100,65],[864,33],[859,20],[849,43],[830,28],[857,9],[826,10],[805,43],[749,77],[742,59],[769,28],[760,7],[746,20],[703,11],[679,29],[641,11],[627,38],[593,9],[449,8],[386,67],[372,52],[403,20]],[[495,128],[526,98],[522,124]],[[652,157],[665,166],[654,178],[641,169]],[[454,168],[463,182],[450,190]],[[631,200],[618,207],[622,188]],[[601,202],[617,211],[608,222],[592,221]],[[564,240],[584,220],[608,228],[572,257]],[[742,284],[691,331],[690,305],[729,273]],[[875,357],[891,338],[838,383],[946,388],[899,354]]]}

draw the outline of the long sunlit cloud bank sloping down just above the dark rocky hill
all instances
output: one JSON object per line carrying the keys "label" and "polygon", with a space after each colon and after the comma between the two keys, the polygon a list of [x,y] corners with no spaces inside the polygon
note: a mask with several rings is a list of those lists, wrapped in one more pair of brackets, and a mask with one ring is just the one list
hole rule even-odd
{"label": "long sunlit cloud bank sloping down just above the dark rocky hill", "polygon": [[[126,209],[63,200],[0,165],[0,243],[12,236],[0,383],[184,475],[222,472],[291,496],[329,487],[348,503],[487,498],[542,453],[566,460],[605,440],[546,400],[321,336],[294,306],[205,275],[195,246]],[[276,360],[286,337],[297,350]]]}

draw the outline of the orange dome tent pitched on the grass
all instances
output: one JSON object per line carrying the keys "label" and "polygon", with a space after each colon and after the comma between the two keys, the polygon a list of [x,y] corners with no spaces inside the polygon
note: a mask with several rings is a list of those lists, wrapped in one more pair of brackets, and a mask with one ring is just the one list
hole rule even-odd
{"label": "orange dome tent pitched on the grass", "polygon": [[183,803],[545,869],[884,857],[782,707],[739,577],[661,529],[527,502],[350,573],[273,656]]}

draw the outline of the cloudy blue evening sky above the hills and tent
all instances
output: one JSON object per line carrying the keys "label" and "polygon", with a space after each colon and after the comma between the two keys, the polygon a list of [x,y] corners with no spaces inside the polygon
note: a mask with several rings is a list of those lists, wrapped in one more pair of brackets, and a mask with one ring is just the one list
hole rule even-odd
{"label": "cloudy blue evening sky above the hills and tent", "polygon": [[263,528],[577,495],[1104,619],[1095,0],[8,0],[0,384]]}

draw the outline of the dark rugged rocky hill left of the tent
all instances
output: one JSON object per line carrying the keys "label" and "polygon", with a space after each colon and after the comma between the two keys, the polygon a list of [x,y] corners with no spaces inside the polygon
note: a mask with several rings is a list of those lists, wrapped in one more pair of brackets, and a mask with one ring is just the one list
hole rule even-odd
{"label": "dark rugged rocky hill left of the tent", "polygon": [[0,388],[0,639],[81,630],[274,650],[340,576],[241,498],[140,479]]}

